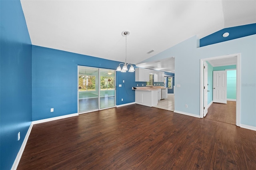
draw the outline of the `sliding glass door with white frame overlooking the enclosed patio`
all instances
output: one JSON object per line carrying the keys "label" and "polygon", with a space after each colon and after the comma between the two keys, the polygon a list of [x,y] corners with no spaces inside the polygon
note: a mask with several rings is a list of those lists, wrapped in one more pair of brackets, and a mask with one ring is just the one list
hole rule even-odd
{"label": "sliding glass door with white frame overlooking the enclosed patio", "polygon": [[78,113],[116,106],[115,70],[78,66]]}

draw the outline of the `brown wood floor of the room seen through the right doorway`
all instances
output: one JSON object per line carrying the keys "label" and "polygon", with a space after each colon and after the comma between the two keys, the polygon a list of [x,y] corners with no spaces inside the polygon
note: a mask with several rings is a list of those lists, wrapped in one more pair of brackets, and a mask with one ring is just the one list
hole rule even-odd
{"label": "brown wood floor of the room seen through the right doorway", "polygon": [[205,118],[236,125],[236,102],[227,101],[227,104],[212,103]]}

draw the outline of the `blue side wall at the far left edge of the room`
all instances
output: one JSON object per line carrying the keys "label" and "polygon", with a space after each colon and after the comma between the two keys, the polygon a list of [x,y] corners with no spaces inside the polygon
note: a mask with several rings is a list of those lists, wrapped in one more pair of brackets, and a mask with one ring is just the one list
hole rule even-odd
{"label": "blue side wall at the far left edge of the room", "polygon": [[32,45],[19,0],[0,1],[0,28],[0,169],[9,170],[32,121]]}

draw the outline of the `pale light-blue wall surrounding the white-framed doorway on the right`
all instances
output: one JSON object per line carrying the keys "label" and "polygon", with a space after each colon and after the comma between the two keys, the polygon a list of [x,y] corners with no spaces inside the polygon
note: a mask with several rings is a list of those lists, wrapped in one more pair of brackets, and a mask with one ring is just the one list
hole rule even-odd
{"label": "pale light-blue wall surrounding the white-framed doorway on the right", "polygon": [[175,56],[175,87],[180,84],[180,88],[175,88],[175,110],[199,117],[200,59],[240,53],[241,124],[256,127],[256,107],[251,107],[256,103],[256,35],[198,46],[198,39],[194,36],[143,62]]}

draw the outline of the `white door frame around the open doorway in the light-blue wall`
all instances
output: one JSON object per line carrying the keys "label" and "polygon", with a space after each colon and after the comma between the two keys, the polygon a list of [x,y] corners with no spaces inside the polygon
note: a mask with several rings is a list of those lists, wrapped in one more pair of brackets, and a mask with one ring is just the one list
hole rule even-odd
{"label": "white door frame around the open doorway in the light-blue wall", "polygon": [[241,53],[200,59],[200,118],[204,117],[204,61],[236,57],[236,126],[240,127]]}

